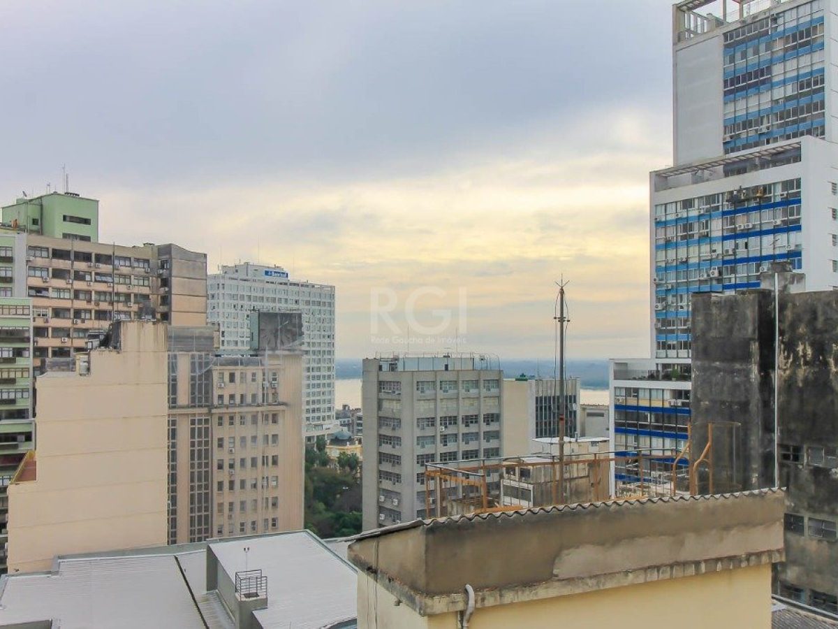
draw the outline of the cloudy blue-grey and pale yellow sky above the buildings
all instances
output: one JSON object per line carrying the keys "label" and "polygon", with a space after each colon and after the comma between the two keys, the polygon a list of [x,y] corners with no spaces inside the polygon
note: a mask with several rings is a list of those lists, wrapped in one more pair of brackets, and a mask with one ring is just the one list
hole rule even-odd
{"label": "cloudy blue-grey and pale yellow sky above the buildings", "polygon": [[338,358],[649,355],[666,0],[0,4],[0,200],[332,283]]}

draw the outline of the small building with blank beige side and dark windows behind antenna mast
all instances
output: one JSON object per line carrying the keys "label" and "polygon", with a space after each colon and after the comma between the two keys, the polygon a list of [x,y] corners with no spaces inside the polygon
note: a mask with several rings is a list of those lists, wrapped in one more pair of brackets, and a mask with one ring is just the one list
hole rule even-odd
{"label": "small building with blank beige side and dark windows behind antenna mast", "polygon": [[[504,456],[528,455],[532,440],[558,437],[561,409],[566,412],[565,434],[577,435],[579,378],[565,381],[565,404],[559,403],[559,381],[526,377],[504,379]],[[561,407],[561,409],[560,409]]]}

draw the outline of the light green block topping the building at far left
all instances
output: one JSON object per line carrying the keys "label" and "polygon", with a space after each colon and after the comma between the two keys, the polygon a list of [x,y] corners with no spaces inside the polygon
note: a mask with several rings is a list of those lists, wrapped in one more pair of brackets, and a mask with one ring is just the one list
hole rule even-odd
{"label": "light green block topping the building at far left", "polygon": [[99,201],[72,192],[23,197],[3,207],[3,223],[42,236],[99,242]]}

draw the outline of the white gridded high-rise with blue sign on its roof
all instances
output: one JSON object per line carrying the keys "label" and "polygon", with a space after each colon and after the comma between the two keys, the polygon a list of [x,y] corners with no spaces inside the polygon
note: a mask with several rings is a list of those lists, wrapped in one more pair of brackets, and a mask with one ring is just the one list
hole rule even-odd
{"label": "white gridded high-rise with blue sign on its roof", "polygon": [[281,267],[241,263],[207,276],[207,320],[218,323],[222,353],[251,347],[250,314],[303,314],[305,437],[339,428],[334,416],[334,286],[293,280]]}

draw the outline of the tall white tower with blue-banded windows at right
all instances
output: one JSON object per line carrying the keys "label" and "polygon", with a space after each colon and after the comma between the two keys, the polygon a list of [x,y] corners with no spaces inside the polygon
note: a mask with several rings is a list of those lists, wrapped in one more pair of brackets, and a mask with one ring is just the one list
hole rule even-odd
{"label": "tall white tower with blue-banded windows at right", "polygon": [[652,357],[612,362],[616,450],[687,443],[691,294],[756,288],[780,261],[804,271],[807,289],[838,287],[830,6],[685,0],[672,9],[674,166],[649,176]]}

